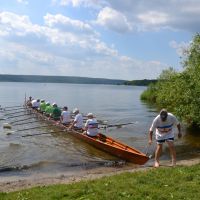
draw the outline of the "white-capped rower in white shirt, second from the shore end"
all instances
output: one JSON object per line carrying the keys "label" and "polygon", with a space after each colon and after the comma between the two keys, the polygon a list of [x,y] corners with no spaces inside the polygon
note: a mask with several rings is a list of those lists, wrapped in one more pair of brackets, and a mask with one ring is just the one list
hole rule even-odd
{"label": "white-capped rower in white shirt, second from the shore end", "polygon": [[72,121],[71,125],[69,126],[70,129],[81,130],[83,128],[83,116],[79,113],[78,108],[73,110],[73,114],[75,114],[74,120]]}

